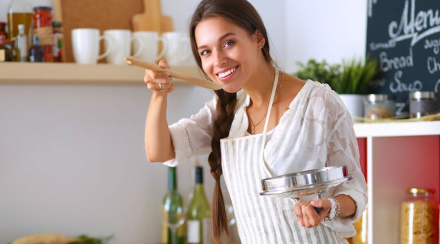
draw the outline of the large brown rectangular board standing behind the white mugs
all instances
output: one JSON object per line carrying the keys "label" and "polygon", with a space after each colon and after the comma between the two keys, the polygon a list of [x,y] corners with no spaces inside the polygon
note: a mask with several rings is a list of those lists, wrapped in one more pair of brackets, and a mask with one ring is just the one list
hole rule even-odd
{"label": "large brown rectangular board standing behind the white mugs", "polygon": [[[74,62],[71,31],[97,28],[132,30],[132,17],[143,11],[142,0],[54,0],[55,20],[63,23],[63,60]],[[101,53],[104,44],[101,42]],[[105,59],[99,62],[105,62]]]}

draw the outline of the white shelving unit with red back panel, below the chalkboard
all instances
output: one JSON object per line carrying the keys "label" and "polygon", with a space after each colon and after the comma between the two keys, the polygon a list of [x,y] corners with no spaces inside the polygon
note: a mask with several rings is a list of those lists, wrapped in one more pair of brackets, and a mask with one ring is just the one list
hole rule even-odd
{"label": "white shelving unit with red back panel, below the chalkboard", "polygon": [[[400,243],[400,204],[411,187],[440,191],[440,122],[357,123],[366,139],[368,243]],[[361,148],[362,150],[362,148]]]}

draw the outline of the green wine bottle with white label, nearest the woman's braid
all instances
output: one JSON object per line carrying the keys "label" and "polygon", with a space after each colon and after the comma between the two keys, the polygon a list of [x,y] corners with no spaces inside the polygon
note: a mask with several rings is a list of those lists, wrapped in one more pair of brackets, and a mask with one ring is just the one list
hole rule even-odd
{"label": "green wine bottle with white label, nearest the woman's braid", "polygon": [[211,205],[206,198],[200,166],[196,167],[196,185],[186,217],[188,244],[212,244]]}

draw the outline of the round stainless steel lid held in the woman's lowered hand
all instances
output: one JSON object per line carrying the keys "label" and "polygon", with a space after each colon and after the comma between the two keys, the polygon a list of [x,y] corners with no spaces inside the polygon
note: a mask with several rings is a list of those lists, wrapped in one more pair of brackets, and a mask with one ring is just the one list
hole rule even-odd
{"label": "round stainless steel lid held in the woman's lowered hand", "polygon": [[318,168],[263,179],[260,195],[298,198],[322,194],[351,179],[346,165]]}

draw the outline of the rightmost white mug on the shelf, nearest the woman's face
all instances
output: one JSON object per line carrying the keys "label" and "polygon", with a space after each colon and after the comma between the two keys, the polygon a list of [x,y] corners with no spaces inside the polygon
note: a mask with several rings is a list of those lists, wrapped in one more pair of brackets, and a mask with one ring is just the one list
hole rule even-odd
{"label": "rightmost white mug on the shelf, nearest the woman's face", "polygon": [[170,31],[162,33],[167,42],[165,59],[169,65],[186,65],[191,58],[191,44],[188,36],[183,32]]}

